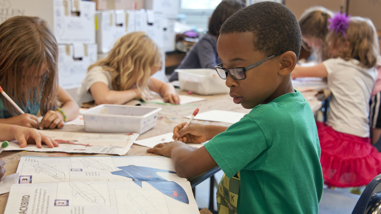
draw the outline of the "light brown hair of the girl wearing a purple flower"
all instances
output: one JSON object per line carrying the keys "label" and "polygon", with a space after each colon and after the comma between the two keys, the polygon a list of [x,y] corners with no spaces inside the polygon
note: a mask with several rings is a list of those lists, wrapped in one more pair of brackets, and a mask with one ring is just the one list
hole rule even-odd
{"label": "light brown hair of the girl wearing a purple flower", "polygon": [[[376,65],[379,56],[379,43],[376,28],[368,18],[352,16],[349,28],[346,30],[347,38],[339,32],[330,32],[327,35],[328,47],[325,50],[331,58],[341,57],[345,60],[357,59],[360,66],[371,68]],[[333,54],[333,49],[343,47],[349,43],[347,49],[338,50]]]}

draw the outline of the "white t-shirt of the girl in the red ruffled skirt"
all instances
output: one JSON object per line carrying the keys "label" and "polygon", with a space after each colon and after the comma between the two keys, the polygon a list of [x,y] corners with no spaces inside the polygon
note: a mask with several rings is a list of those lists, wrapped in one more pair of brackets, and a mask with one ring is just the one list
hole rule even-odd
{"label": "white t-shirt of the girl in the red ruffled skirt", "polygon": [[327,59],[328,88],[332,92],[326,124],[335,131],[369,137],[369,99],[377,78],[375,67],[366,69],[356,59]]}

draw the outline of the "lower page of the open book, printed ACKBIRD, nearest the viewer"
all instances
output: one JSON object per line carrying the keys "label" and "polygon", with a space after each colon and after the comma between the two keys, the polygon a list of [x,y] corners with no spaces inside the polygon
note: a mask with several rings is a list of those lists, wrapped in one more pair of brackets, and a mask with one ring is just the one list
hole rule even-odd
{"label": "lower page of the open book, printed ACKBIRD, nearest the viewer", "polygon": [[191,184],[181,182],[53,182],[14,184],[5,214],[199,214]]}

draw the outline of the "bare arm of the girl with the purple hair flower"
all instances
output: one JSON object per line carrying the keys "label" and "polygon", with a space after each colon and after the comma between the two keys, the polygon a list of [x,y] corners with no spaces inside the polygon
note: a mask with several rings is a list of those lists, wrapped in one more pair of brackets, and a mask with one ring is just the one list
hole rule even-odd
{"label": "bare arm of the girl with the purple hair flower", "polygon": [[315,66],[303,67],[296,65],[295,69],[291,72],[291,78],[296,77],[327,77],[328,72],[324,64],[321,62]]}

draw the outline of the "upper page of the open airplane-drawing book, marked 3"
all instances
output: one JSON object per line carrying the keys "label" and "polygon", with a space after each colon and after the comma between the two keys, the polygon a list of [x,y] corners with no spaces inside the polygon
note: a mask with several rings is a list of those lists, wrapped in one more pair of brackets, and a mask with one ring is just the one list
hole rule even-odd
{"label": "upper page of the open airplane-drawing book, marked 3", "polygon": [[19,184],[77,181],[186,181],[167,157],[21,157]]}

